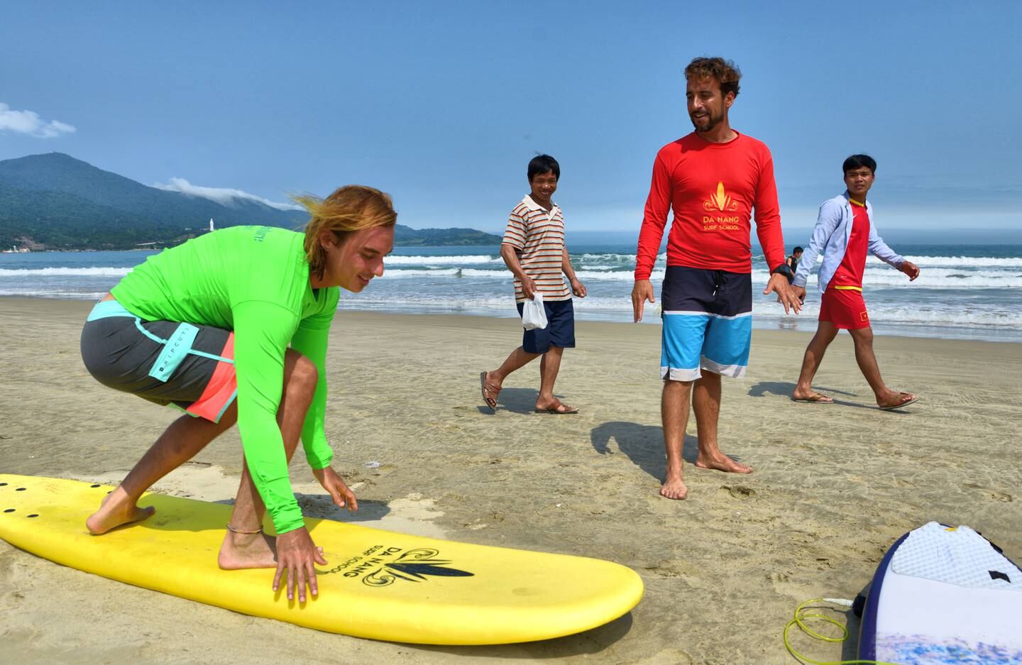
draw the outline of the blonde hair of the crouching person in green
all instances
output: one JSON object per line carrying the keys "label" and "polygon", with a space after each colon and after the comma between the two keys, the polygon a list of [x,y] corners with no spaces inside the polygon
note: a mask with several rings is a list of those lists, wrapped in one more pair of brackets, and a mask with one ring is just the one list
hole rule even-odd
{"label": "blonde hair of the crouching person in green", "polygon": [[364,185],[338,187],[325,199],[312,194],[292,196],[291,199],[309,210],[312,219],[306,225],[306,258],[309,272],[322,276],[326,251],[319,236],[331,231],[338,242],[362,229],[392,227],[398,213],[389,194]]}

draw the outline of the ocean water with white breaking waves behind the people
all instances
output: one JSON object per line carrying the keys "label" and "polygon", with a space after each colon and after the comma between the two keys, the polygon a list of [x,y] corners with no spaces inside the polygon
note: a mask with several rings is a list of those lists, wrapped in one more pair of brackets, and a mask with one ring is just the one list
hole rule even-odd
{"label": "ocean water with white breaking waves behind the people", "polygon": [[[634,245],[568,248],[588,297],[575,299],[579,320],[632,321]],[[864,295],[877,334],[1022,341],[1022,245],[912,245],[895,249],[922,269],[915,282],[874,257],[867,260]],[[397,247],[383,277],[362,293],[341,293],[341,310],[407,314],[516,317],[511,274],[497,246]],[[39,252],[0,254],[0,295],[97,299],[152,252]],[[665,256],[653,273],[659,298]],[[812,331],[820,294],[808,284],[805,307],[785,316],[774,296],[761,295],[768,271],[753,254],[753,325]],[[644,323],[658,324],[647,303]]]}

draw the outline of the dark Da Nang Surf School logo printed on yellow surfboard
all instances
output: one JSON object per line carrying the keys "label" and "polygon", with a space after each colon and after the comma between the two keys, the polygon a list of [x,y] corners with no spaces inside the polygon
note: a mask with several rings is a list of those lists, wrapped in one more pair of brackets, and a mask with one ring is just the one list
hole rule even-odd
{"label": "dark Da Nang Surf School logo printed on yellow surfboard", "polygon": [[439,550],[432,548],[406,551],[376,544],[325,572],[362,578],[362,583],[368,586],[388,586],[398,580],[423,582],[430,577],[474,576],[467,570],[452,568],[454,562],[440,559],[439,554]]}

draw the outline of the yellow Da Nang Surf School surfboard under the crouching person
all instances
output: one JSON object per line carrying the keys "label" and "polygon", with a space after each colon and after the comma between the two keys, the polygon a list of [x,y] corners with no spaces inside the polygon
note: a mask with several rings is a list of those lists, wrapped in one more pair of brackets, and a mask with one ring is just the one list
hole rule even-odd
{"label": "yellow Da Nang Surf School surfboard under the crouching person", "polygon": [[156,514],[90,535],[85,519],[112,487],[0,474],[0,538],[72,568],[252,616],[359,637],[497,645],[559,637],[611,621],[642,579],[608,561],[451,542],[306,520],[329,567],[305,604],[271,589],[273,571],[223,571],[231,507],[147,494]]}

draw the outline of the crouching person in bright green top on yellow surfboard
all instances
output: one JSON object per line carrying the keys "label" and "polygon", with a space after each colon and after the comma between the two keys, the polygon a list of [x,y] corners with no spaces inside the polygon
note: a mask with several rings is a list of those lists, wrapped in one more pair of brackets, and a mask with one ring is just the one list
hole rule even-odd
{"label": "crouching person in bright green top on yellow surfboard", "polygon": [[[215,231],[150,256],[89,315],[82,359],[100,383],[184,411],[86,521],[93,534],[144,520],[137,505],[159,478],[235,422],[241,483],[218,556],[221,568],[276,568],[273,590],[318,592],[322,551],[306,529],[287,465],[300,436],[333,503],[358,510],[330,467],[324,430],[327,337],[342,287],[383,274],[397,213],[390,197],[347,186],[298,197],[304,234],[270,227]],[[236,397],[236,398],[235,398]],[[277,536],[263,533],[269,511]]]}

